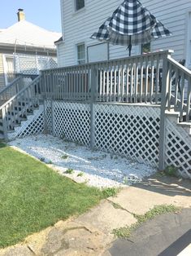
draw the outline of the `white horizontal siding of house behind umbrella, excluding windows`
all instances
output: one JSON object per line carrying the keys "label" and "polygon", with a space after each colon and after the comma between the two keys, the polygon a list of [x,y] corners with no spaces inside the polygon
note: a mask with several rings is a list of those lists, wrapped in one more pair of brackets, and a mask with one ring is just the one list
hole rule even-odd
{"label": "white horizontal siding of house behind umbrella, excluding windows", "polygon": [[[75,45],[78,42],[85,42],[85,46],[95,45],[97,40],[90,39],[93,32],[108,16],[121,4],[122,0],[86,0],[85,8],[74,13],[71,0],[61,0],[62,23],[64,43],[62,46],[63,55],[59,64],[61,66],[76,64]],[[186,56],[186,13],[191,10],[191,0],[141,0],[143,6],[153,13],[158,20],[170,29],[173,35],[168,38],[160,38],[151,42],[151,51],[172,49],[175,51],[174,58],[180,60]],[[61,47],[59,47],[61,49]],[[110,60],[128,56],[126,46],[109,45]],[[139,54],[141,46],[132,47],[132,55]],[[63,57],[64,56],[64,57]]]}

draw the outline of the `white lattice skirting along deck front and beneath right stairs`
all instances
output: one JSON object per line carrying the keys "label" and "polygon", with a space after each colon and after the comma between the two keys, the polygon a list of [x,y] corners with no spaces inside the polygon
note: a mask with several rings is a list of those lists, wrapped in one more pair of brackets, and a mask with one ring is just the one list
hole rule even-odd
{"label": "white lattice skirting along deck front and beneath right stairs", "polygon": [[[93,146],[158,167],[160,108],[93,104]],[[46,128],[55,136],[90,145],[90,105],[46,101]],[[165,165],[190,177],[191,137],[167,118]],[[191,178],[191,177],[190,177]]]}

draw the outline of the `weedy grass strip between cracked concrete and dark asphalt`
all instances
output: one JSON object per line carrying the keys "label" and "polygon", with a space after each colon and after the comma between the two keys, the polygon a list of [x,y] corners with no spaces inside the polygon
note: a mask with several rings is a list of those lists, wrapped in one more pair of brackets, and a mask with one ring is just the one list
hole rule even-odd
{"label": "weedy grass strip between cracked concrete and dark asphalt", "polygon": [[142,223],[145,223],[160,214],[176,213],[178,211],[180,211],[180,207],[176,207],[175,205],[156,205],[144,215],[133,214],[133,216],[137,218],[137,223],[132,224],[130,227],[116,228],[112,233],[119,238],[129,238],[132,235],[132,232],[135,231],[137,227],[141,226]]}

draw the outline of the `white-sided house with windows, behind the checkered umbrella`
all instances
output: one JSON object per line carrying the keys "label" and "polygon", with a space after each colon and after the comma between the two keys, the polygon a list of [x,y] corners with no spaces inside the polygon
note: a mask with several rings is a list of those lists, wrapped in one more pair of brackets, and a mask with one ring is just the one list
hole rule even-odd
{"label": "white-sided house with windows, behind the checkered umbrella", "polygon": [[[123,0],[61,0],[63,38],[55,42],[59,66],[112,60],[128,56],[126,46],[113,46],[90,39],[93,32]],[[172,49],[176,60],[186,59],[191,68],[191,1],[141,0],[144,7],[171,30],[173,35],[151,42],[151,51]],[[141,53],[141,46],[132,47],[132,55]]]}

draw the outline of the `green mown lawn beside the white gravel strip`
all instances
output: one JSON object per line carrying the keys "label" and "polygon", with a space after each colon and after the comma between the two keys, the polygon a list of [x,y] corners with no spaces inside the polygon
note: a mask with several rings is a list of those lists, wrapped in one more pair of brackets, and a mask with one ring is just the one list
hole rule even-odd
{"label": "green mown lawn beside the white gravel strip", "polygon": [[104,196],[0,143],[0,247],[82,214]]}

